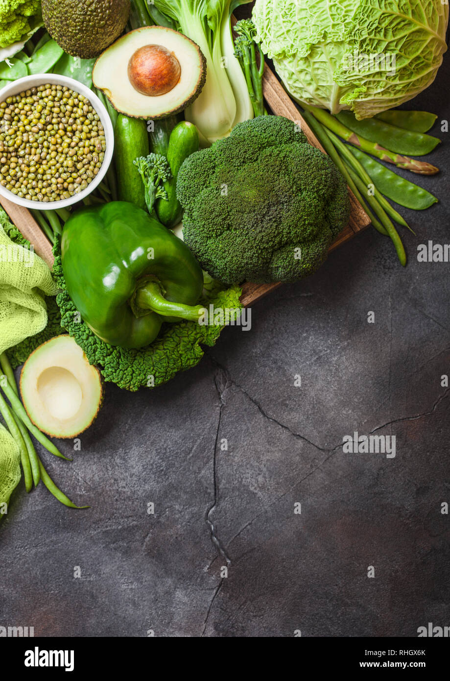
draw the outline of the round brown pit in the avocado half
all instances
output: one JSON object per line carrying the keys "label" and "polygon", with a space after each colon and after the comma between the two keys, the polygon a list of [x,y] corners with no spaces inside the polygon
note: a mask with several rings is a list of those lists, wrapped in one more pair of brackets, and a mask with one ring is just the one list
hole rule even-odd
{"label": "round brown pit in the avocado half", "polygon": [[163,45],[144,45],[128,63],[128,78],[135,90],[159,97],[174,89],[181,76],[180,62]]}

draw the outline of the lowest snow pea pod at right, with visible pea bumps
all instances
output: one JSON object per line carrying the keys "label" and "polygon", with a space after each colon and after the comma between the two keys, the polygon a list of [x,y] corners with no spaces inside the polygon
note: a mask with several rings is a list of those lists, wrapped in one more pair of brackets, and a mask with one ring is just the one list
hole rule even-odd
{"label": "lowest snow pea pod at right, with visible pea bumps", "polygon": [[350,151],[365,168],[376,189],[395,201],[396,204],[411,208],[411,210],[425,210],[438,201],[436,196],[433,196],[429,191],[385,168],[382,163],[375,161],[364,151],[360,151],[354,146],[350,148]]}

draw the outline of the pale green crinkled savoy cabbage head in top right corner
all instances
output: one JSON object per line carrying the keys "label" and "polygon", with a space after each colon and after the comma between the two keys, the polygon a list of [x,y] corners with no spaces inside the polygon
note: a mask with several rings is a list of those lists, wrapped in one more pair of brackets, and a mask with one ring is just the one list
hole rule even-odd
{"label": "pale green crinkled savoy cabbage head in top right corner", "polygon": [[297,101],[369,118],[432,84],[447,50],[443,0],[256,0],[263,52]]}

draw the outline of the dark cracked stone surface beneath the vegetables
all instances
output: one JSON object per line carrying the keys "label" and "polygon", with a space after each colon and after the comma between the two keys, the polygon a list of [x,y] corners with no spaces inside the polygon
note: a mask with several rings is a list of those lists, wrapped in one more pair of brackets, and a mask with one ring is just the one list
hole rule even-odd
{"label": "dark cracked stone surface beneath the vegetables", "polygon": [[[447,55],[408,108],[448,119],[449,78]],[[450,392],[440,385],[450,264],[416,258],[421,242],[450,242],[440,134],[432,162],[443,172],[417,180],[442,202],[402,210],[417,232],[402,232],[406,269],[369,228],[308,281],[255,305],[252,330],[225,330],[189,373],[154,392],[108,385],[74,462],[44,455],[91,508],[20,484],[0,526],[1,625],[44,636],[340,637],[450,624],[440,513],[450,502]],[[353,430],[395,435],[396,458],[344,454]]]}

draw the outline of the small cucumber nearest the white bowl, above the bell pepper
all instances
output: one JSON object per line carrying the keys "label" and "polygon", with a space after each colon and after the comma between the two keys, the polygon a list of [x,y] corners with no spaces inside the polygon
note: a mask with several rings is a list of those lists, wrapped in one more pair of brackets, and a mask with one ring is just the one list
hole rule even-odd
{"label": "small cucumber nearest the white bowl, above the bell pepper", "polygon": [[118,199],[146,210],[144,185],[133,164],[135,159],[150,153],[146,122],[120,114],[114,127],[114,144]]}

